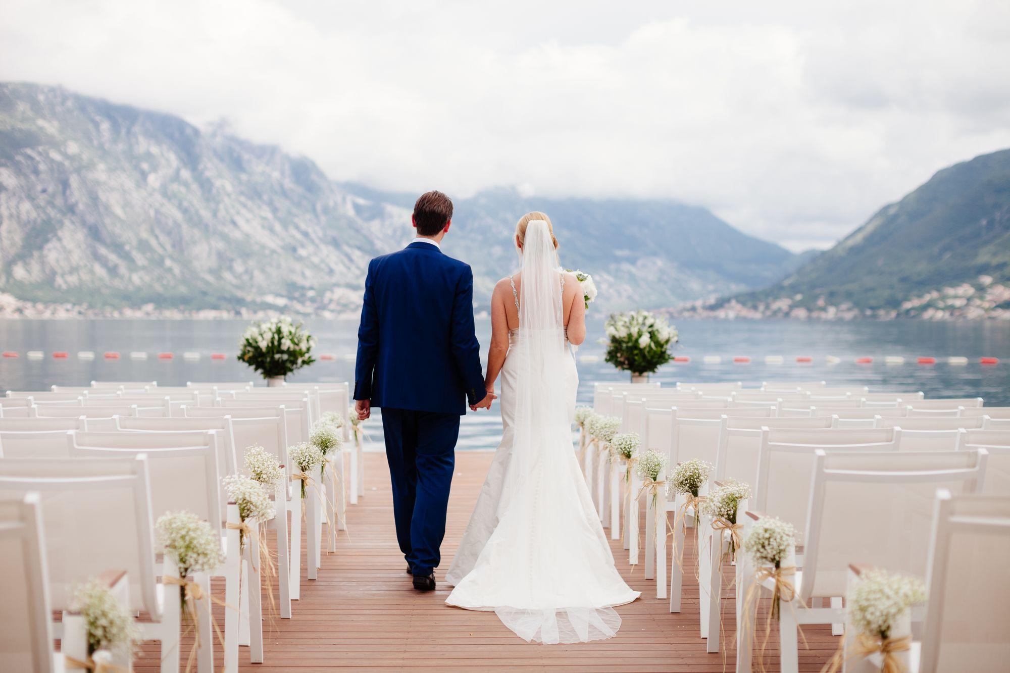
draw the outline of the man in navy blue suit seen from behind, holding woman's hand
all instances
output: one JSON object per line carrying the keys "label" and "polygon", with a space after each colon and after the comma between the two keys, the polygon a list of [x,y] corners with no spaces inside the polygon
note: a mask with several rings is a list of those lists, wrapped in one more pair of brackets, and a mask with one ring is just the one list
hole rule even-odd
{"label": "man in navy blue suit seen from behind, holding woman's hand", "polygon": [[355,407],[382,407],[396,538],[414,588],[435,588],[460,416],[491,408],[474,333],[474,273],[443,255],[452,202],[422,194],[417,237],[369,263],[358,329]]}

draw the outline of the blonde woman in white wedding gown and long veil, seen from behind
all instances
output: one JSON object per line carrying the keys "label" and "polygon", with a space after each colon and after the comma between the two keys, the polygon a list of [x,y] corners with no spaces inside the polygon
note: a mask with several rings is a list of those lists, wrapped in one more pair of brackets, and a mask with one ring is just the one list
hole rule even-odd
{"label": "blonde woman in white wedding gown and long veil, seen from behind", "polygon": [[586,338],[579,281],[562,272],[550,220],[519,220],[520,273],[492,296],[485,383],[501,374],[502,442],[445,577],[445,602],[494,611],[526,641],[610,638],[621,579],[572,445],[579,375],[568,344]]}

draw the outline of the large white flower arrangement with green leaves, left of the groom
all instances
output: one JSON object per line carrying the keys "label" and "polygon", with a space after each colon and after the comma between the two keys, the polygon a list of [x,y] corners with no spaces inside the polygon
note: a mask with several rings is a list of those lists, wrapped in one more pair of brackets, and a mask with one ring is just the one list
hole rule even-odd
{"label": "large white flower arrangement with green leaves, left of the groom", "polygon": [[315,338],[288,316],[250,324],[238,342],[238,360],[265,378],[285,377],[315,362]]}

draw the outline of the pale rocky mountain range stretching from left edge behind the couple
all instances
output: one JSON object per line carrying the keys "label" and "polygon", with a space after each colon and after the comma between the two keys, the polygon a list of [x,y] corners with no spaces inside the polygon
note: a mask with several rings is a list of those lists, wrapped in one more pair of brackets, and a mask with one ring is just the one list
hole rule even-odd
{"label": "pale rocky mountain range stretching from left edge behind the couple", "polygon": [[[90,308],[352,310],[368,260],[413,235],[415,195],[330,180],[313,162],[178,117],[0,84],[0,291]],[[601,307],[766,285],[796,256],[663,200],[456,199],[447,254],[477,296],[513,271],[512,227],[540,209]],[[480,299],[479,299],[480,301]]]}

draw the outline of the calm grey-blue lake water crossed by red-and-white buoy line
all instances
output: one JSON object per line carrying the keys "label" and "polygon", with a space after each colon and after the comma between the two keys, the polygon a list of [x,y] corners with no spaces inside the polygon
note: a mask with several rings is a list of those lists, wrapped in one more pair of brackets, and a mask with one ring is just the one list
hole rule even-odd
{"label": "calm grey-blue lake water crossed by red-and-white buoy line", "polygon": [[[292,381],[347,381],[354,379],[357,320],[308,320],[319,340],[318,353],[336,356],[332,362],[317,362],[299,372]],[[162,385],[184,385],[187,381],[242,381],[254,373],[235,360],[241,320],[0,320],[0,350],[14,351],[19,358],[0,359],[0,387],[5,390],[42,390],[53,384],[87,385],[95,379],[152,380]],[[1005,322],[795,322],[788,320],[723,321],[683,320],[677,323],[681,346],[677,355],[690,356],[687,364],[670,364],[656,378],[664,385],[676,381],[762,381],[823,379],[829,384],[865,383],[874,390],[922,390],[927,397],[979,395],[990,406],[1010,405],[1010,323]],[[491,325],[478,321],[478,335],[486,344]],[[596,343],[603,334],[602,319],[590,327],[583,356],[602,356]],[[41,360],[29,360],[27,351],[42,351]],[[54,351],[70,357],[58,360]],[[94,361],[77,357],[78,351],[93,351]],[[119,360],[102,354],[118,351]],[[147,353],[146,361],[129,359],[131,351]],[[201,354],[196,362],[183,359],[184,352]],[[158,353],[174,353],[172,360],[159,360]],[[224,353],[225,360],[210,360],[211,353]],[[706,355],[721,356],[720,364],[704,364]],[[765,356],[783,356],[782,365],[767,365]],[[734,356],[748,356],[750,364],[734,364]],[[800,365],[796,356],[811,356],[811,364]],[[829,364],[827,356],[842,362]],[[886,356],[903,356],[903,365],[886,365]],[[966,366],[915,364],[919,356],[945,359],[964,356]],[[991,356],[1003,362],[982,366],[979,358]],[[857,365],[855,358],[873,357],[874,364]],[[579,363],[581,403],[592,396],[592,382],[623,381],[627,374],[602,362]],[[469,414],[464,419],[461,448],[488,449],[497,446],[501,421],[493,412]],[[371,435],[381,440],[378,421]]]}

